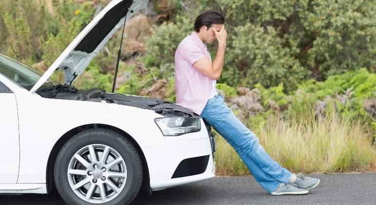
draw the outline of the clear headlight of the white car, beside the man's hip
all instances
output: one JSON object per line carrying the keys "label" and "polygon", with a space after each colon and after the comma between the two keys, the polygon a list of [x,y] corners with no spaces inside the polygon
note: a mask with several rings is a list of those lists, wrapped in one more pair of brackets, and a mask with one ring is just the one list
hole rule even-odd
{"label": "clear headlight of the white car, beside the man's hip", "polygon": [[164,136],[178,136],[201,130],[200,118],[166,117],[156,118],[154,121]]}

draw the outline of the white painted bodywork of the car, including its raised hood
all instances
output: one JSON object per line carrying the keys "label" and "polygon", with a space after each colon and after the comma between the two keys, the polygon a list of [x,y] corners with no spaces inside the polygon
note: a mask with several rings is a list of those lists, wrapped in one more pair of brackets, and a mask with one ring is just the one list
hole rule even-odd
{"label": "white painted bodywork of the car, including its raised hood", "polygon": [[[47,99],[35,92],[56,69],[67,68],[65,75],[68,80],[72,73],[79,75],[84,70],[104,43],[121,27],[125,18],[119,21],[93,53],[80,53],[73,49],[104,13],[120,1],[111,1],[88,24],[30,91],[0,74],[0,82],[13,92],[0,93],[0,139],[2,144],[6,144],[0,149],[0,156],[5,160],[5,166],[2,164],[0,169],[0,193],[47,193],[46,174],[51,173],[47,173],[46,167],[54,145],[69,130],[94,123],[123,130],[141,147],[152,190],[214,177],[209,136],[202,119],[199,132],[167,137],[162,135],[154,122],[155,118],[163,116],[152,110],[115,103]],[[136,11],[147,0],[135,2],[132,7]],[[131,15],[128,13],[126,18]],[[203,155],[210,156],[204,173],[171,179],[181,161]]]}

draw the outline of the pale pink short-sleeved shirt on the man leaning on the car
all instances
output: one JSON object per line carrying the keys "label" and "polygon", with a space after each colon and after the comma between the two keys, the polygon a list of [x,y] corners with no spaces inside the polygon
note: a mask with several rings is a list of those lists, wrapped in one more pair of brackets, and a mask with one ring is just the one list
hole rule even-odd
{"label": "pale pink short-sleeved shirt on the man leaning on the car", "polygon": [[176,104],[198,115],[208,102],[213,82],[192,66],[204,57],[211,61],[207,46],[194,31],[180,42],[175,52]]}

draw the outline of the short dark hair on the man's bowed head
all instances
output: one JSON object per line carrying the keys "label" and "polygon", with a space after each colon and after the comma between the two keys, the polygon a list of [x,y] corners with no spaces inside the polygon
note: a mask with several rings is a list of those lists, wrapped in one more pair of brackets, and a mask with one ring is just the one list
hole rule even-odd
{"label": "short dark hair on the man's bowed head", "polygon": [[194,21],[194,30],[200,32],[201,26],[206,25],[208,29],[211,27],[211,24],[223,24],[225,22],[225,17],[214,10],[208,10],[202,12]]}

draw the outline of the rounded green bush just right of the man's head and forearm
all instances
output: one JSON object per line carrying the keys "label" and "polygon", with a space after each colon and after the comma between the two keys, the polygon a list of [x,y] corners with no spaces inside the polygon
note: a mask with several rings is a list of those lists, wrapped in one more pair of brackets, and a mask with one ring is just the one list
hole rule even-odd
{"label": "rounded green bush just right of the man's head and forearm", "polygon": [[[283,82],[288,90],[293,90],[308,76],[307,70],[294,58],[293,51],[282,45],[273,27],[238,26],[229,40],[227,51],[230,52],[222,76],[224,82],[245,87],[253,87],[256,83],[270,87]],[[232,71],[237,68],[242,70],[234,75]]]}

